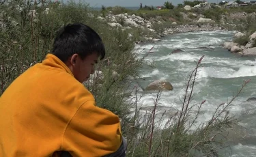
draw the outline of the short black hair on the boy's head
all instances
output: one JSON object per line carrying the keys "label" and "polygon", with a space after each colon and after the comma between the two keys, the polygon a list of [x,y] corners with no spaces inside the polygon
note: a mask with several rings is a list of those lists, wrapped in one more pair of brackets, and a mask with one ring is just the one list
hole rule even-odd
{"label": "short black hair on the boy's head", "polygon": [[98,53],[100,59],[105,56],[105,48],[100,35],[83,23],[61,27],[53,43],[53,55],[63,62],[68,61],[68,58],[75,53],[81,59],[85,59],[92,53]]}

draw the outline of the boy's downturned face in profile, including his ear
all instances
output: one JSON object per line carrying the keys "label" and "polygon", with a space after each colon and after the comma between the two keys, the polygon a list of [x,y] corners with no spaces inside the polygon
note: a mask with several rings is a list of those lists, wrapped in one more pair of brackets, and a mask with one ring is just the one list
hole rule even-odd
{"label": "boy's downturned face in profile, including his ear", "polygon": [[79,55],[74,54],[71,59],[72,63],[72,73],[74,78],[80,83],[83,83],[88,80],[90,74],[94,74],[94,65],[98,63],[97,53],[92,53],[87,55],[85,59],[81,59]]}

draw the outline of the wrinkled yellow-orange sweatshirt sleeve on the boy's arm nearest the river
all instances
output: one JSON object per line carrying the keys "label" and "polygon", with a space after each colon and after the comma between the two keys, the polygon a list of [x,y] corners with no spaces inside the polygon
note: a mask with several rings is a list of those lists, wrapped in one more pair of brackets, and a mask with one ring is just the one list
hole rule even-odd
{"label": "wrinkled yellow-orange sweatshirt sleeve on the boy's arm nearest the river", "polygon": [[119,117],[89,100],[80,106],[68,123],[61,149],[73,157],[93,157],[111,154],[121,144]]}

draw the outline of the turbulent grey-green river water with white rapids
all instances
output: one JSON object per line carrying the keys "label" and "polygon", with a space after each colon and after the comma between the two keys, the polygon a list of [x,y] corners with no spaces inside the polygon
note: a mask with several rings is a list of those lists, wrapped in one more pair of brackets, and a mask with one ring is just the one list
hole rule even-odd
{"label": "turbulent grey-green river water with white rapids", "polygon": [[[164,78],[173,85],[173,91],[165,91],[160,99],[160,106],[180,109],[180,96],[184,94],[184,83],[188,74],[195,68],[195,61],[205,55],[199,69],[195,86],[194,102],[206,100],[201,109],[199,122],[210,119],[218,104],[227,102],[240,89],[244,80],[251,82],[244,88],[242,94],[233,102],[231,114],[240,119],[240,126],[247,132],[247,139],[233,139],[230,154],[224,156],[256,156],[256,101],[246,102],[248,98],[256,97],[256,61],[253,57],[240,57],[223,49],[221,44],[229,42],[233,31],[201,31],[193,33],[177,33],[169,35],[156,44],[137,46],[140,57],[154,46],[146,60],[153,63],[140,70],[141,79],[138,83],[142,88],[152,81]],[[207,48],[206,48],[207,47]],[[184,52],[169,55],[180,48]],[[147,93],[138,102],[141,107],[153,105],[152,98],[156,93]]]}

